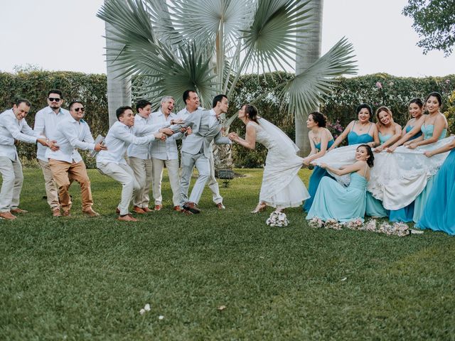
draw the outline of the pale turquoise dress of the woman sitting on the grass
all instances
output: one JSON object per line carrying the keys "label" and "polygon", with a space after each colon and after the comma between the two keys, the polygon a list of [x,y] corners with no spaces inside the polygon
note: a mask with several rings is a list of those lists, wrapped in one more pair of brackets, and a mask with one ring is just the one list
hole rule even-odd
{"label": "pale turquoise dress of the woman sitting on the grass", "polygon": [[335,219],[338,222],[349,222],[357,218],[363,221],[367,184],[367,180],[358,173],[350,173],[348,187],[327,176],[322,178],[306,220],[319,217],[324,221]]}

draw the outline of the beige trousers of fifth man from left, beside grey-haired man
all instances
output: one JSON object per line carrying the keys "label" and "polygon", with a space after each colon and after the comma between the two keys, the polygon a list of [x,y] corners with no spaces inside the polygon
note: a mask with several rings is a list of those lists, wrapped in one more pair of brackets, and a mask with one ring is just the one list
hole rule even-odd
{"label": "beige trousers of fifth man from left, beside grey-haired man", "polygon": [[140,189],[134,193],[133,205],[149,207],[150,185],[153,179],[153,167],[150,159],[129,157],[129,166],[134,172],[134,177],[139,183]]}

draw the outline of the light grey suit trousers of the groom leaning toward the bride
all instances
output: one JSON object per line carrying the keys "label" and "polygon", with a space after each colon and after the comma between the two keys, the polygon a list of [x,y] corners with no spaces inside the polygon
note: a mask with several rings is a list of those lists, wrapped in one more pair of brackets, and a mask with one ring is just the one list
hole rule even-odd
{"label": "light grey suit trousers of the groom leaning toward the bride", "polygon": [[[190,187],[191,175],[193,175],[193,168],[196,166],[199,172],[198,179],[194,184],[193,190],[191,190],[190,198],[188,199],[188,188]],[[198,203],[202,196],[205,183],[210,176],[210,162],[208,158],[205,158],[203,153],[191,155],[182,152],[182,176],[180,181],[180,200],[181,205],[185,202]]]}

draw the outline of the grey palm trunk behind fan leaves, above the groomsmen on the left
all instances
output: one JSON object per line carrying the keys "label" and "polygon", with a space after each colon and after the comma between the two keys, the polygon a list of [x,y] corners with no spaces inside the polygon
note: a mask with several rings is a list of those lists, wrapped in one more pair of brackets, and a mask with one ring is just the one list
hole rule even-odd
{"label": "grey palm trunk behind fan leaves, above the groomsmen on the left", "polygon": [[[105,0],[105,3],[109,0]],[[110,40],[112,30],[110,23],[105,22],[106,28],[106,55],[109,56],[109,49],[119,45],[119,43]],[[120,71],[114,70],[112,61],[107,58],[107,108],[109,111],[109,126],[117,121],[115,110],[124,105],[131,105],[131,77],[119,77]]]}

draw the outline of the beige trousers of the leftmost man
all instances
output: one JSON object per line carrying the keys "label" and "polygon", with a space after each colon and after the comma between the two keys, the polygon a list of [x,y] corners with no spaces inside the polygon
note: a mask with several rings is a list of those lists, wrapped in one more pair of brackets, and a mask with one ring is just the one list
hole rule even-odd
{"label": "beige trousers of the leftmost man", "polygon": [[0,173],[3,183],[0,190],[0,212],[9,212],[19,205],[23,183],[22,165],[19,158],[11,161],[0,156]]}

